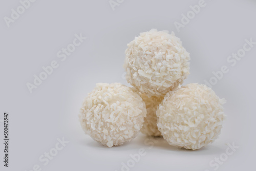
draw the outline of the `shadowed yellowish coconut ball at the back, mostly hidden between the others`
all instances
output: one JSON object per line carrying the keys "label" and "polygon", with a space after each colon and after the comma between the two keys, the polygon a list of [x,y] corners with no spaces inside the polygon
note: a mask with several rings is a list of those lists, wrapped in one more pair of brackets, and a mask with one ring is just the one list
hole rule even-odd
{"label": "shadowed yellowish coconut ball at the back, mostly hidden between the others", "polygon": [[159,104],[162,102],[164,96],[151,96],[148,97],[145,94],[141,95],[143,101],[146,104],[146,117],[141,128],[141,132],[148,136],[162,136],[157,127],[157,115],[156,110]]}

